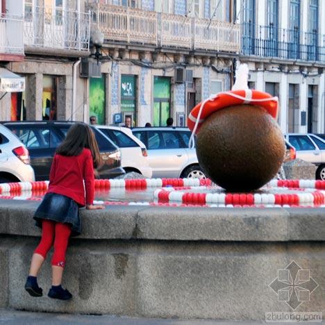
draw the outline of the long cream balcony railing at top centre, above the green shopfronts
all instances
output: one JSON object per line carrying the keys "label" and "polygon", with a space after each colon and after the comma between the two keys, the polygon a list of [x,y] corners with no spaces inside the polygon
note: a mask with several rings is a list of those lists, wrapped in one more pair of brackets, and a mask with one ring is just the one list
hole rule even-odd
{"label": "long cream balcony railing at top centre, above the green shopfronts", "polygon": [[99,29],[107,42],[188,51],[240,51],[237,24],[100,3],[89,3],[88,8],[93,28]]}

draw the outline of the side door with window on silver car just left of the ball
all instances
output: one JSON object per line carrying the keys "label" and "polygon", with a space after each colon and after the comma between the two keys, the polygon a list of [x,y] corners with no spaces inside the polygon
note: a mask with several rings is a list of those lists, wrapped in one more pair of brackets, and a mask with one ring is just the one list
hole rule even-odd
{"label": "side door with window on silver car just left of the ball", "polygon": [[186,153],[176,131],[148,131],[148,158],[153,177],[178,177],[188,163]]}

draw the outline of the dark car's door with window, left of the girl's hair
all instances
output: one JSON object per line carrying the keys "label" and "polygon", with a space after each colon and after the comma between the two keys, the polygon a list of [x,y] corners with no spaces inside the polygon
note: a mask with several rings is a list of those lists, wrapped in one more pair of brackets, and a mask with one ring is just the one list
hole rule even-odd
{"label": "dark car's door with window, left of the girl's hair", "polygon": [[49,172],[55,149],[50,147],[51,129],[47,124],[21,124],[8,126],[25,144],[31,156],[31,166],[35,172],[36,181],[49,179]]}

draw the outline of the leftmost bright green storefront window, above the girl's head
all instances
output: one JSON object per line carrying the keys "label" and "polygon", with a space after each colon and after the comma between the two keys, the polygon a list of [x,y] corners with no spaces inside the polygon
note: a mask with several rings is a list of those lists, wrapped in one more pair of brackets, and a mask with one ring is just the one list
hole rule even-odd
{"label": "leftmost bright green storefront window, above the girl's head", "polygon": [[97,124],[105,124],[105,75],[90,78],[89,116],[97,118]]}

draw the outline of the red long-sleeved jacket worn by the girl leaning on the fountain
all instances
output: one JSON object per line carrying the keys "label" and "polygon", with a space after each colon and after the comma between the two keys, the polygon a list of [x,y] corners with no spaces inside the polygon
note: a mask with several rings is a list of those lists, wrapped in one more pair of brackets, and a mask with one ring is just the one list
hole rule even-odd
{"label": "red long-sleeved jacket worn by the girl leaning on the fountain", "polygon": [[51,165],[47,192],[65,195],[81,206],[92,204],[94,201],[94,165],[90,149],[83,149],[79,156],[56,154]]}

